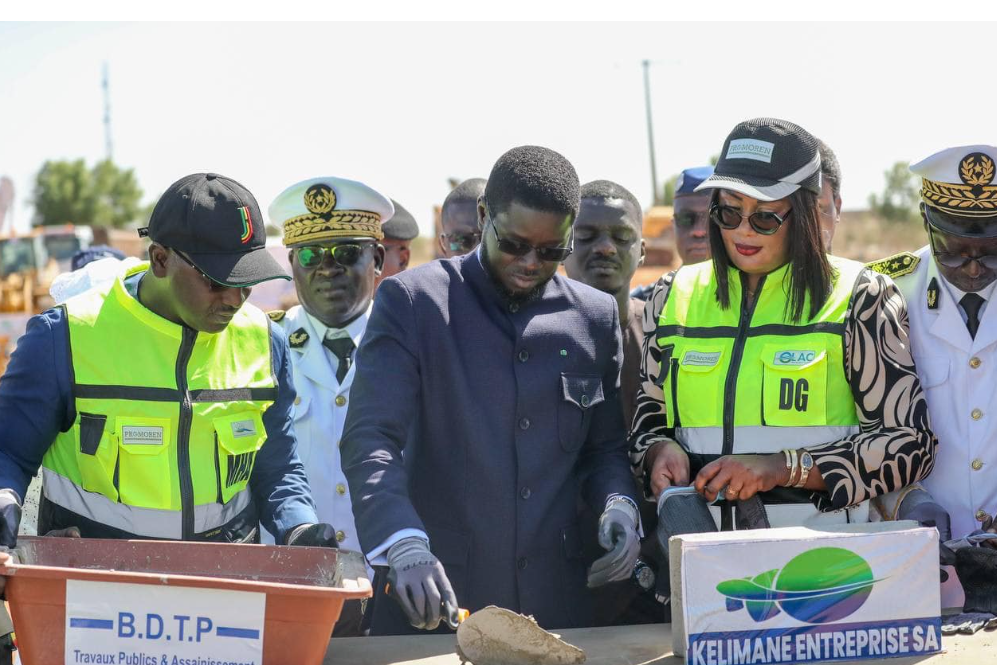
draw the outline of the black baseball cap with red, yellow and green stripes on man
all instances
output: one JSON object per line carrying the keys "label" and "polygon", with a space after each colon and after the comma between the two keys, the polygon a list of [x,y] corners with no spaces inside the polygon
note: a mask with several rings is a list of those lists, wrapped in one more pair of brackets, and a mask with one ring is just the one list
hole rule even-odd
{"label": "black baseball cap with red, yellow and green stripes on man", "polygon": [[183,252],[198,270],[224,286],[291,279],[266,250],[256,198],[217,173],[194,173],[170,185],[139,235]]}

